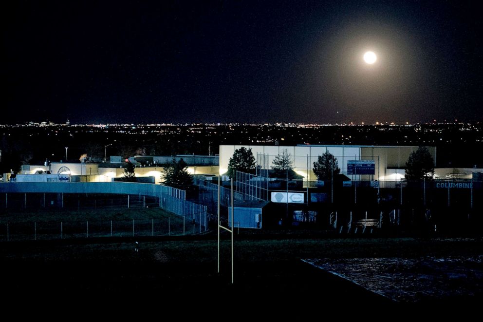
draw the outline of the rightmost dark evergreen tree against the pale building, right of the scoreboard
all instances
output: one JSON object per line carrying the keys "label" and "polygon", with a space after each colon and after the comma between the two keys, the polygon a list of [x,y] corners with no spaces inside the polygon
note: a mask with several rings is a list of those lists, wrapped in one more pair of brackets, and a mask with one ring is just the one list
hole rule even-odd
{"label": "rightmost dark evergreen tree against the pale building, right of the scoreboard", "polygon": [[411,152],[406,162],[406,180],[432,180],[434,176],[434,159],[427,147],[419,147]]}

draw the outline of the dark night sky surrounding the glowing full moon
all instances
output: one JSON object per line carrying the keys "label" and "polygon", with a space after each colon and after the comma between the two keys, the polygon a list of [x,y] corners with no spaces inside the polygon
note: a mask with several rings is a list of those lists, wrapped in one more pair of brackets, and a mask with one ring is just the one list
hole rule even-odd
{"label": "dark night sky surrounding the glowing full moon", "polygon": [[479,2],[393,2],[8,1],[0,124],[482,121]]}

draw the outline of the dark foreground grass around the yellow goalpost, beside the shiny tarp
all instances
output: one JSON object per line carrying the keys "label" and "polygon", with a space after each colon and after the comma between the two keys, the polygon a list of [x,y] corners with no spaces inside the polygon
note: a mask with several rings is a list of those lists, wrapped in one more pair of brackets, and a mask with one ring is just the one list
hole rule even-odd
{"label": "dark foreground grass around the yellow goalpost, beside the shiny tarp", "polygon": [[[240,237],[241,238],[241,237]],[[135,241],[138,251],[135,251]],[[464,256],[483,254],[481,239],[238,239],[235,284],[230,284],[229,242],[205,239],[97,239],[1,244],[6,294],[129,298],[163,303],[262,301],[287,305],[334,305],[391,301],[302,263],[304,258]],[[465,299],[467,301],[467,299]],[[185,303],[183,302],[183,303]],[[302,303],[302,304],[301,304]],[[240,304],[240,303],[239,303]]]}

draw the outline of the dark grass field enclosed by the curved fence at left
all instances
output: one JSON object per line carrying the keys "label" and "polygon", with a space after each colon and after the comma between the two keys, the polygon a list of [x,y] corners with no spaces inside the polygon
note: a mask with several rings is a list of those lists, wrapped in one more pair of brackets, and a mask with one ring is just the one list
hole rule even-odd
{"label": "dark grass field enclosed by the curved fence at left", "polygon": [[[185,231],[186,228],[186,231]],[[184,235],[200,225],[161,208],[24,211],[0,216],[0,242]]]}

